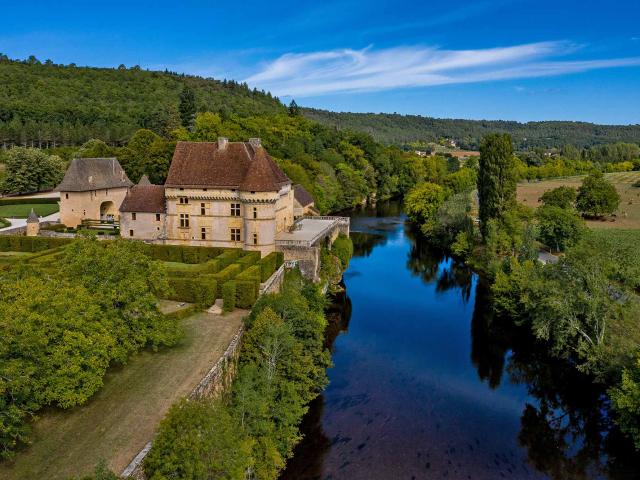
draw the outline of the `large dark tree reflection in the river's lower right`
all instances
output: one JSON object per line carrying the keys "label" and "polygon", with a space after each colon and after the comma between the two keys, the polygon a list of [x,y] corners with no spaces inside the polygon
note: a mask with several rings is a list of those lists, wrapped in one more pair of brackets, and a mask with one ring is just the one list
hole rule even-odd
{"label": "large dark tree reflection in the river's lower right", "polygon": [[604,389],[551,357],[525,328],[496,318],[482,281],[471,335],[471,359],[480,378],[497,388],[504,375],[526,385],[533,398],[522,412],[519,434],[532,466],[554,480],[637,478],[640,459],[608,416]]}

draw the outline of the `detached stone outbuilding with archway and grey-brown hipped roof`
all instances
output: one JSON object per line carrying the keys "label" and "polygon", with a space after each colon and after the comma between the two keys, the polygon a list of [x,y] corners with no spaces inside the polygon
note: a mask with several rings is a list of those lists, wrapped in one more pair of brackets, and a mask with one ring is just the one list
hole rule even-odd
{"label": "detached stone outbuilding with archway and grey-brown hipped roof", "polygon": [[56,188],[60,222],[73,228],[83,220],[117,222],[132,185],[116,158],[74,158]]}

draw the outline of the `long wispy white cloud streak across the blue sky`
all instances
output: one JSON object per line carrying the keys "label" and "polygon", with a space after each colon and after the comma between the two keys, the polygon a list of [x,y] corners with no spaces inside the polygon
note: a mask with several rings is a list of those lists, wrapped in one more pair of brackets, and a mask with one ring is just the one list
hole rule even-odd
{"label": "long wispy white cloud streak across the blue sky", "polygon": [[638,66],[640,57],[561,60],[580,47],[540,42],[475,50],[396,47],[287,53],[246,79],[279,96],[331,93],[548,77],[588,70]]}

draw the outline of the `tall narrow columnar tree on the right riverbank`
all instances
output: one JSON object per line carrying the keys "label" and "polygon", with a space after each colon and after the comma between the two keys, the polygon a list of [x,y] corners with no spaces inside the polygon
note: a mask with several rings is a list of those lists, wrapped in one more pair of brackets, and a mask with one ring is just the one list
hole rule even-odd
{"label": "tall narrow columnar tree on the right riverbank", "polygon": [[515,202],[516,174],[511,136],[491,134],[480,144],[478,200],[480,228],[487,233],[487,222],[500,219]]}

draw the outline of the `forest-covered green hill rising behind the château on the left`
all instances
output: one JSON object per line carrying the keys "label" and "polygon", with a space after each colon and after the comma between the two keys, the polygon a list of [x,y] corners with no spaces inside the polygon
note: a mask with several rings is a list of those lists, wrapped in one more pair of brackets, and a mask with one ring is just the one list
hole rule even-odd
{"label": "forest-covered green hill rising behind the ch\u00e2teau on the left", "polygon": [[124,143],[139,128],[165,134],[180,123],[185,85],[197,111],[239,116],[284,112],[271,94],[218,81],[140,68],[88,68],[13,61],[0,54],[0,146]]}

